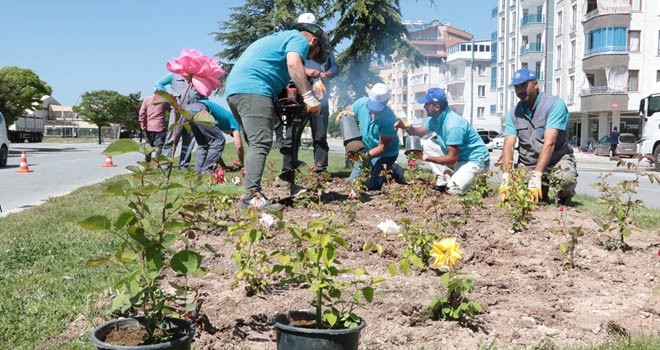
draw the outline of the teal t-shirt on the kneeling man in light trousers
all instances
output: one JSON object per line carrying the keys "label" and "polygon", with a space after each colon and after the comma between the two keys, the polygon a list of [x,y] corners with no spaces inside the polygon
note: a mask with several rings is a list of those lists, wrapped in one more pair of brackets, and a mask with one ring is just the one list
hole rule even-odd
{"label": "teal t-shirt on the kneeling man in light trousers", "polygon": [[445,108],[438,118],[427,118],[424,127],[438,135],[438,142],[445,154],[449,152],[447,146],[458,146],[459,161],[473,162],[481,166],[490,162],[488,148],[477,130],[449,108]]}

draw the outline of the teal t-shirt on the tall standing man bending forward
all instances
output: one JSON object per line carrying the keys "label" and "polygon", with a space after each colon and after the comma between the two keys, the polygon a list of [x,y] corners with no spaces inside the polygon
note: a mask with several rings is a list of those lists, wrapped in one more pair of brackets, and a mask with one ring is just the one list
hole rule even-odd
{"label": "teal t-shirt on the tall standing man bending forward", "polygon": [[229,76],[225,95],[255,94],[275,100],[289,83],[286,54],[307,58],[309,43],[297,30],[285,30],[253,42],[238,58]]}

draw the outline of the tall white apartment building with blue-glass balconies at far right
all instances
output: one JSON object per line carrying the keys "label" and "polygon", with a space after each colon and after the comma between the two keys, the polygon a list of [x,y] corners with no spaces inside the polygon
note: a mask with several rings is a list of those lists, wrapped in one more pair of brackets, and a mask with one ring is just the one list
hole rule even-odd
{"label": "tall white apartment building with blue-glass balconies at far right", "polygon": [[573,145],[613,126],[639,135],[639,100],[660,92],[659,16],[652,0],[498,0],[498,113],[517,103],[508,83],[528,67],[543,91],[566,102]]}

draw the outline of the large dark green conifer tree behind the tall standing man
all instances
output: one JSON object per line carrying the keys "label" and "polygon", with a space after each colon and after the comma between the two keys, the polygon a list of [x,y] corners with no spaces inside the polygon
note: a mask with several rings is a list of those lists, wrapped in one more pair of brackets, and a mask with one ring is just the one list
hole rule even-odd
{"label": "large dark green conifer tree behind the tall standing man", "polygon": [[319,24],[338,19],[336,28],[327,32],[335,48],[340,43],[348,45],[337,55],[341,73],[333,80],[340,87],[340,106],[363,96],[365,86],[380,81],[368,69],[372,63],[391,60],[393,52],[397,59],[406,57],[413,65],[423,60],[407,40],[399,0],[246,0],[243,6],[231,10],[230,20],[221,22],[221,31],[215,33],[216,41],[226,47],[217,54],[225,66],[238,59],[255,40],[290,28],[302,12],[314,13]]}

